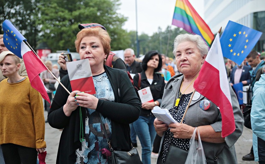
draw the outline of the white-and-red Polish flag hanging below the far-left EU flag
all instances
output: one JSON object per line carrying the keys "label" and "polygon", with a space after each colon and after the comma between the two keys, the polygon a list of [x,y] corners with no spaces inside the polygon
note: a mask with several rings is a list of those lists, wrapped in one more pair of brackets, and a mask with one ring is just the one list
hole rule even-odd
{"label": "white-and-red Polish flag hanging below the far-left EU flag", "polygon": [[48,89],[45,87],[43,81],[39,76],[41,72],[47,70],[47,67],[23,41],[21,42],[21,56],[24,60],[32,88],[40,92],[42,98],[51,104],[49,96],[47,94]]}

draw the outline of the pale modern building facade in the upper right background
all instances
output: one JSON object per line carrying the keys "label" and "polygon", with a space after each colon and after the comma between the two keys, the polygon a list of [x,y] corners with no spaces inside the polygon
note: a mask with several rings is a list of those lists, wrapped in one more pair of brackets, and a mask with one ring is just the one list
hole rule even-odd
{"label": "pale modern building facade in the upper right background", "polygon": [[204,0],[204,21],[214,34],[229,20],[263,32],[254,49],[265,51],[265,0]]}

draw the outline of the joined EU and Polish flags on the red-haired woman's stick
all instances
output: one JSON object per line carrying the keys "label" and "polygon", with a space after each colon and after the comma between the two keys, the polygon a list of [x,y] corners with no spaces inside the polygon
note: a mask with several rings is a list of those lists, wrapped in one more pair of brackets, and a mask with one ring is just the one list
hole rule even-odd
{"label": "joined EU and Polish flags on the red-haired woman's stick", "polygon": [[44,86],[44,83],[39,76],[41,72],[47,70],[47,67],[24,43],[26,38],[9,20],[5,20],[2,27],[4,31],[3,41],[5,46],[19,58],[23,58],[32,88],[40,92],[42,98],[51,104],[47,94],[47,88]]}

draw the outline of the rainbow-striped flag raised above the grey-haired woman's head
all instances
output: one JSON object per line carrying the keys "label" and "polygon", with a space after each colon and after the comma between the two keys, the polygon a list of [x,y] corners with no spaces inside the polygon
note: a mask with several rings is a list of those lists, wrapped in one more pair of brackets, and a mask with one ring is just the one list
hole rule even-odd
{"label": "rainbow-striped flag raised above the grey-haired woman's head", "polygon": [[203,21],[188,0],[177,0],[172,25],[182,27],[189,33],[195,33],[211,45],[214,35],[209,26]]}

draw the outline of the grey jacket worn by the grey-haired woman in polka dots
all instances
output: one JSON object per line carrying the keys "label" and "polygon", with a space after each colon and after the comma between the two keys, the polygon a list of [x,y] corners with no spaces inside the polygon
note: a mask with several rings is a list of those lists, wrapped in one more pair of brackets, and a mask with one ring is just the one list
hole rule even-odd
{"label": "grey jacket worn by the grey-haired woman in polka dots", "polygon": [[[173,76],[165,85],[164,95],[162,98],[161,108],[170,109],[173,107],[174,98],[179,89],[179,83],[182,81],[183,75]],[[208,164],[225,164],[225,163],[237,163],[236,153],[235,153],[235,142],[241,136],[243,131],[243,114],[239,109],[239,103],[236,98],[232,87],[230,86],[230,94],[232,100],[232,106],[235,117],[235,132],[225,137],[225,142],[223,143],[210,143],[203,142],[203,149],[205,157]],[[218,95],[216,95],[218,96]],[[195,101],[191,101],[188,111],[185,116],[185,123],[192,127],[198,127],[203,125],[211,125],[215,132],[222,131],[222,118],[220,110],[215,104],[210,101],[211,106],[208,110],[202,110],[200,108],[200,102],[206,97],[200,95],[200,98]],[[165,133],[161,139],[159,157],[157,163],[161,163],[161,147],[165,137]],[[178,157],[176,157],[177,160]],[[214,162],[215,161],[215,162]]]}

